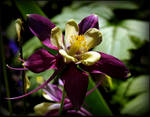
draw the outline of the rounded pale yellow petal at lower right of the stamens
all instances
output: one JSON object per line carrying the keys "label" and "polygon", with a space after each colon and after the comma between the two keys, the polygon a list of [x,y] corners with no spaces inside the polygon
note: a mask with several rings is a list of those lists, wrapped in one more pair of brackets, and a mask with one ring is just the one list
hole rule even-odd
{"label": "rounded pale yellow petal at lower right of the stamens", "polygon": [[81,55],[81,63],[87,66],[93,65],[100,59],[101,55],[98,52],[89,51]]}

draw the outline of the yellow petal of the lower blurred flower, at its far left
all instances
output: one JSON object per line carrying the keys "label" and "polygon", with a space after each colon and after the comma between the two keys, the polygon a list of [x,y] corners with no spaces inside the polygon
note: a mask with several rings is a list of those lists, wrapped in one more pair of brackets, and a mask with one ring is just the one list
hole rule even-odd
{"label": "yellow petal of the lower blurred flower, at its far left", "polygon": [[48,103],[48,102],[43,102],[43,103],[37,104],[34,106],[34,111],[38,115],[45,115],[46,112],[49,111],[48,107],[50,105],[51,105],[51,103]]}

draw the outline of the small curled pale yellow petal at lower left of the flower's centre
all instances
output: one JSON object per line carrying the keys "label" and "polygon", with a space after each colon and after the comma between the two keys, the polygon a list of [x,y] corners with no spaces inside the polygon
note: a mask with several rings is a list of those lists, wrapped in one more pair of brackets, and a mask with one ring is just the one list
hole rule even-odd
{"label": "small curled pale yellow petal at lower left of the flower's centre", "polygon": [[73,56],[67,54],[67,52],[63,49],[59,50],[59,53],[64,57],[64,62],[68,63],[70,61],[77,62],[78,60]]}

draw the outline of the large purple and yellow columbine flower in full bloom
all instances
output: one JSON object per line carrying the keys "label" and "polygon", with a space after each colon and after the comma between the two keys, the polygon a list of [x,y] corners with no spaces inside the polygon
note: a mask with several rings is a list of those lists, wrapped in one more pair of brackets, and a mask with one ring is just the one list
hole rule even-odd
{"label": "large purple and yellow columbine flower in full bloom", "polygon": [[120,60],[102,52],[91,51],[102,41],[96,15],[92,14],[84,18],[79,24],[73,19],[69,20],[65,26],[65,37],[60,28],[55,27],[48,18],[43,16],[30,14],[28,23],[31,32],[45,46],[57,50],[58,54],[55,56],[45,49],[39,49],[24,62],[25,69],[36,73],[47,69],[56,69],[56,71],[37,89],[11,99],[24,97],[43,88],[58,71],[61,71],[64,64],[67,68],[60,77],[64,81],[67,96],[72,105],[77,108],[82,105],[87,92],[88,74],[85,71],[114,78],[128,77],[129,70]]}

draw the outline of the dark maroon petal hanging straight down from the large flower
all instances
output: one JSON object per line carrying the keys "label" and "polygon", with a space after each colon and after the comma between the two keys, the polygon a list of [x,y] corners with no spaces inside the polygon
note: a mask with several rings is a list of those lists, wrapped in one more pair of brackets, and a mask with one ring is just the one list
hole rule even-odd
{"label": "dark maroon petal hanging straight down from the large flower", "polygon": [[77,69],[74,64],[70,64],[61,78],[64,80],[65,91],[72,105],[79,108],[87,91],[88,75]]}

